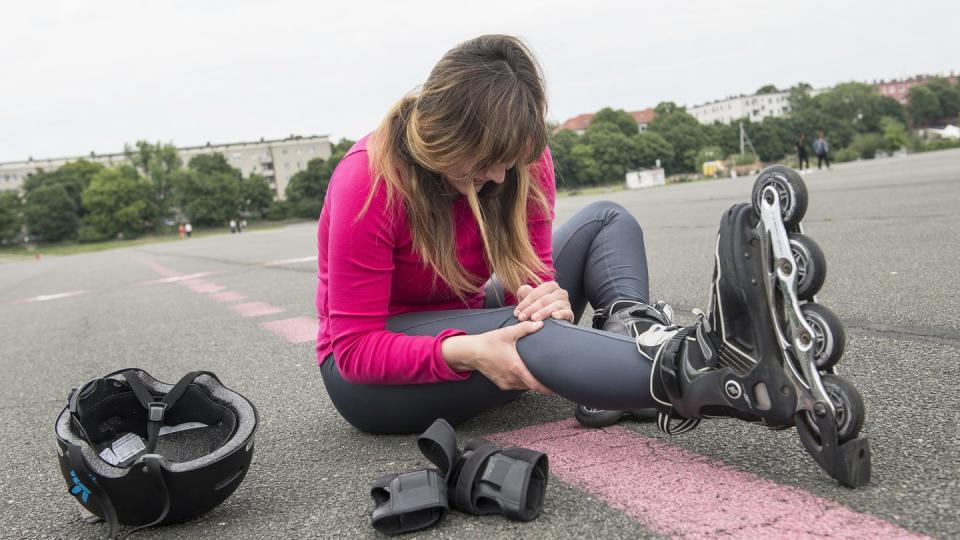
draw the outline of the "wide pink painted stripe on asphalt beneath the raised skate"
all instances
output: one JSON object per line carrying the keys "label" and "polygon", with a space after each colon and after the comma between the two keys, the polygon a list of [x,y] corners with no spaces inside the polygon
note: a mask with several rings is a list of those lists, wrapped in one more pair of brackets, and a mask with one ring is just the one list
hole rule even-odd
{"label": "wide pink painted stripe on asphalt beneath the raised skate", "polygon": [[487,438],[546,453],[554,476],[669,536],[926,538],[620,427],[570,419]]}

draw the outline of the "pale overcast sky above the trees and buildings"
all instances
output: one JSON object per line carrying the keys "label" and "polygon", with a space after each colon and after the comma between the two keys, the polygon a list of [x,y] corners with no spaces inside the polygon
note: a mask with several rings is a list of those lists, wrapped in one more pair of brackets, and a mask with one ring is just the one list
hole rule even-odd
{"label": "pale overcast sky above the trees and buildings", "polygon": [[524,38],[550,118],[960,71],[960,2],[4,0],[0,161],[357,138],[449,48]]}

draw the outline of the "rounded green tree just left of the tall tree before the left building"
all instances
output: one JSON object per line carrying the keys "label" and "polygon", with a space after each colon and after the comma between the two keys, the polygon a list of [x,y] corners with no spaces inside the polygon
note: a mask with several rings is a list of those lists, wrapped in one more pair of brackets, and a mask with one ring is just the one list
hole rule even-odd
{"label": "rounded green tree just left of the tall tree before the left building", "polygon": [[114,238],[122,233],[131,238],[143,233],[151,195],[150,183],[131,166],[97,173],[83,192],[85,221],[96,235],[84,236]]}

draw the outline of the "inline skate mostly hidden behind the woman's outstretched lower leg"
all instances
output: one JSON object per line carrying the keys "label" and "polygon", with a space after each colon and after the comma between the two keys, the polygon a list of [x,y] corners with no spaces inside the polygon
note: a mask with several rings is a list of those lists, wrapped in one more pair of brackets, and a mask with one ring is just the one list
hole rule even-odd
{"label": "inline skate mostly hidden behind the woman's outstretched lower leg", "polygon": [[[654,331],[661,332],[670,332],[677,328],[673,325],[673,308],[666,302],[657,302],[651,306],[638,300],[625,299],[616,300],[606,308],[594,312],[593,327],[633,339],[653,327],[656,327]],[[649,359],[653,361],[653,358]],[[582,426],[599,428],[612,426],[626,417],[641,422],[652,421],[657,418],[657,414],[655,408],[608,410],[577,405],[574,417]]]}

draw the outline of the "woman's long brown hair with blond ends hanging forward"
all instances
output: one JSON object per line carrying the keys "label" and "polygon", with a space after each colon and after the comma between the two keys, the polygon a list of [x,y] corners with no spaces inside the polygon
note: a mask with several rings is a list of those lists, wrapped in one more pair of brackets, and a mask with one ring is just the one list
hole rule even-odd
{"label": "woman's long brown hair with blond ends hanging forward", "polygon": [[358,219],[385,182],[388,204],[405,203],[417,254],[464,300],[482,282],[457,260],[451,203],[460,193],[444,174],[469,163],[472,180],[494,164],[515,163],[505,182],[480,193],[468,182],[466,197],[487,264],[506,289],[538,282],[546,267],[530,243],[527,209],[532,200],[550,212],[532,171],[547,144],[546,103],[540,67],[519,39],[485,35],[454,47],[371,135],[374,183]]}

